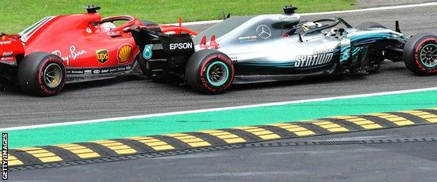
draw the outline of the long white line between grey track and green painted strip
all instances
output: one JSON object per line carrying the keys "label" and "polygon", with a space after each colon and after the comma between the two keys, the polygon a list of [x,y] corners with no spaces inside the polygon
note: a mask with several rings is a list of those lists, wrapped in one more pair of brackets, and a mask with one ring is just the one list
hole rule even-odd
{"label": "long white line between grey track and green painted strip", "polygon": [[12,131],[12,130],[27,130],[27,129],[41,128],[41,127],[55,127],[55,126],[66,126],[66,125],[80,125],[80,124],[88,124],[88,123],[102,123],[102,122],[118,121],[118,120],[143,119],[143,118],[153,118],[153,117],[160,117],[160,116],[175,116],[175,115],[190,114],[190,113],[206,113],[206,112],[213,112],[213,111],[249,109],[249,108],[256,108],[256,107],[263,107],[263,106],[282,106],[282,105],[286,105],[286,104],[324,102],[324,101],[331,101],[331,100],[335,100],[335,99],[354,99],[354,98],[382,96],[382,95],[389,95],[389,94],[405,94],[405,93],[411,93],[411,92],[424,92],[424,91],[431,91],[431,90],[437,90],[437,87],[428,87],[428,88],[421,88],[421,89],[414,89],[414,90],[399,90],[399,91],[391,91],[391,92],[377,92],[377,93],[371,93],[371,94],[354,94],[354,95],[347,95],[347,96],[340,96],[340,97],[305,99],[305,100],[288,101],[288,102],[272,102],[272,103],[252,104],[252,105],[245,105],[245,106],[221,107],[221,108],[213,108],[213,109],[199,109],[199,110],[193,110],[193,111],[179,111],[179,112],[172,112],[172,113],[155,113],[155,114],[148,114],[148,115],[141,115],[141,116],[127,116],[127,117],[106,118],[106,119],[99,119],[99,120],[82,120],[82,121],[74,121],[74,122],[67,122],[67,123],[50,123],[50,124],[44,124],[44,125],[30,125],[30,126],[22,126],[22,127],[5,127],[5,128],[0,128],[0,131],[4,132],[4,131]]}

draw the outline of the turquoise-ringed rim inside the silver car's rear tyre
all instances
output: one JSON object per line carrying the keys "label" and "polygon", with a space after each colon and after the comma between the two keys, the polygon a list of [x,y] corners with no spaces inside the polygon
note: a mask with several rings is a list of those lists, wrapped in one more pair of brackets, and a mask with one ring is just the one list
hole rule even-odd
{"label": "turquoise-ringed rim inside the silver car's rear tyre", "polygon": [[211,85],[221,86],[228,80],[228,66],[223,62],[213,62],[208,66],[207,79]]}

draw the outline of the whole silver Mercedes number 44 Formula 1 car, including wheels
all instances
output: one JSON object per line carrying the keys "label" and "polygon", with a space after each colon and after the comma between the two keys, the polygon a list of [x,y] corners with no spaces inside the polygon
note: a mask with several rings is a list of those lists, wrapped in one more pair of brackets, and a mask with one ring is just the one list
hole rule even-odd
{"label": "whole silver Mercedes number 44 Formula 1 car, including wheels", "polygon": [[204,93],[231,83],[292,80],[333,73],[366,74],[384,59],[403,61],[417,75],[437,73],[437,36],[405,36],[375,22],[352,27],[341,18],[300,21],[297,8],[282,15],[230,17],[200,32],[163,34],[159,27],[131,32],[140,64],[151,79],[179,79]]}

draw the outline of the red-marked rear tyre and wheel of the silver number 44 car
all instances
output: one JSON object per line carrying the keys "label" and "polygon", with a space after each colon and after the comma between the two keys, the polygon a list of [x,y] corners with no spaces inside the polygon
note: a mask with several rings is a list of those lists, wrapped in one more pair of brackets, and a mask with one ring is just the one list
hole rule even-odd
{"label": "red-marked rear tyre and wheel of the silver number 44 car", "polygon": [[188,85],[205,94],[220,94],[234,80],[232,60],[216,50],[200,50],[191,55],[185,69]]}

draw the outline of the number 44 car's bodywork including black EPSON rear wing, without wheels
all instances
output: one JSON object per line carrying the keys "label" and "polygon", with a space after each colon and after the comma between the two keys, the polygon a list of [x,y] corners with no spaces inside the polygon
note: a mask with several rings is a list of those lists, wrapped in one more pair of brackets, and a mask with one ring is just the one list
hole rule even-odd
{"label": "number 44 car's bodywork including black EPSON rear wing, without wheels", "polygon": [[341,18],[300,21],[294,11],[284,8],[284,12],[231,17],[195,37],[165,35],[148,27],[135,29],[132,35],[145,55],[140,58],[148,76],[153,80],[173,76],[181,83],[186,81],[188,59],[204,49],[230,57],[233,83],[256,83],[370,73],[384,59],[402,61],[403,46],[410,38],[398,26],[393,31],[373,22],[352,27]]}

